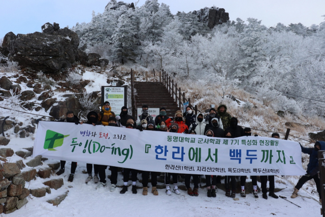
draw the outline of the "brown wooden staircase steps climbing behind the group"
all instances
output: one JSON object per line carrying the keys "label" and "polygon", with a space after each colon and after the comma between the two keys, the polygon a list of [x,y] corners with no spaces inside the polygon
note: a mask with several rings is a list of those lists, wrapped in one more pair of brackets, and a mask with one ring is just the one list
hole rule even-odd
{"label": "brown wooden staircase steps climbing behind the group", "polygon": [[148,105],[149,108],[165,107],[167,115],[170,117],[174,117],[175,112],[179,110],[174,98],[161,82],[134,81],[134,88],[137,91],[135,96],[137,108],[142,108],[143,104]]}

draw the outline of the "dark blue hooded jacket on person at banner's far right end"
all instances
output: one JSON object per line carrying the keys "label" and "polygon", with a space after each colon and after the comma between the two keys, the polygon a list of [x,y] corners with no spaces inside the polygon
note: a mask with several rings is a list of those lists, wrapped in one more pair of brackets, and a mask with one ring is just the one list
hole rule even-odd
{"label": "dark blue hooded jacket on person at banner's far right end", "polygon": [[319,150],[325,150],[325,142],[323,141],[317,141],[314,145],[313,148],[305,148],[302,145],[301,151],[303,153],[308,153],[309,154],[309,163],[307,165],[307,173],[310,174],[311,176],[314,176],[317,174],[319,167],[318,167],[318,149],[316,148],[316,145],[319,145],[320,149]]}

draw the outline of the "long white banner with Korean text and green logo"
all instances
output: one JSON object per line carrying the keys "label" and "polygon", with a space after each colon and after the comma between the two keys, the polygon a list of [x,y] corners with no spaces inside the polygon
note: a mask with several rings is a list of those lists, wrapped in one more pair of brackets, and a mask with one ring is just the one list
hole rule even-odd
{"label": "long white banner with Korean text and green logo", "polygon": [[33,156],[145,171],[211,175],[304,175],[299,143],[40,121]]}

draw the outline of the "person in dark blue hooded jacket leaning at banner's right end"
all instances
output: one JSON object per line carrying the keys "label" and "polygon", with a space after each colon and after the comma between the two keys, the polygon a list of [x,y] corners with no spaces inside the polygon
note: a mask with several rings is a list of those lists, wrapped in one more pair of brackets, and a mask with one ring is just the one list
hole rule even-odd
{"label": "person in dark blue hooded jacket leaning at banner's right end", "polygon": [[316,188],[317,188],[317,192],[319,195],[319,202],[321,203],[321,198],[320,198],[320,181],[318,178],[318,171],[319,171],[319,167],[318,167],[318,151],[319,150],[325,150],[325,142],[323,141],[317,141],[314,145],[313,148],[305,148],[302,145],[300,145],[301,147],[301,151],[303,153],[308,153],[309,154],[309,163],[307,165],[307,173],[306,175],[303,175],[294,190],[293,195],[291,195],[291,198],[296,198],[298,196],[298,191],[301,189],[301,187],[303,187],[304,183],[306,183],[307,181],[314,179],[315,183],[316,183]]}

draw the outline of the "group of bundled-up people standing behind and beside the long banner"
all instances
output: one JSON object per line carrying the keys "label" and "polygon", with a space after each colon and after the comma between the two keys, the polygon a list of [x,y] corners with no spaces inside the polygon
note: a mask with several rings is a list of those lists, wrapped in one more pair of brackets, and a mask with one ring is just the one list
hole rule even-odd
{"label": "group of bundled-up people standing behind and beside the long banner", "polygon": [[[89,125],[103,125],[103,126],[112,126],[112,127],[123,127],[128,129],[137,129],[140,131],[160,131],[160,132],[171,132],[171,133],[185,133],[185,134],[196,134],[196,135],[205,135],[208,137],[218,137],[218,138],[237,138],[242,136],[251,136],[251,129],[243,129],[238,125],[238,119],[232,117],[227,112],[227,107],[225,105],[220,105],[217,109],[211,108],[209,114],[205,115],[204,113],[194,114],[191,106],[186,108],[186,112],[176,111],[174,117],[167,116],[167,110],[164,107],[160,108],[159,115],[153,119],[153,117],[148,113],[148,105],[142,106],[142,114],[140,114],[137,120],[128,114],[127,107],[123,106],[121,108],[121,113],[115,115],[112,112],[112,108],[109,102],[105,102],[100,113],[91,111],[87,115],[86,122],[79,122],[79,119],[72,111],[67,112],[67,118],[59,121],[65,122],[74,122],[78,124],[89,124]],[[272,138],[279,139],[280,136],[278,133],[273,133]],[[318,178],[318,159],[317,151],[325,150],[325,142],[316,142],[314,148],[304,148],[301,146],[304,153],[310,154],[310,162],[308,164],[307,174],[302,176],[299,182],[297,183],[294,193],[291,198],[296,198],[298,196],[298,191],[302,185],[310,180],[314,179],[317,187],[317,192],[320,198],[320,187],[319,187],[319,178]],[[65,161],[61,161],[61,168],[56,173],[61,175],[64,173]],[[74,178],[74,173],[76,171],[77,163],[72,162],[71,164],[71,174],[68,178],[68,182],[72,182]],[[88,177],[85,180],[85,183],[93,181],[98,183],[96,189],[106,187],[106,165],[92,165],[87,164],[87,173]],[[92,176],[92,168],[94,170],[94,176]],[[111,187],[110,191],[113,192],[116,189],[117,177],[118,177],[118,168],[110,166],[111,170]],[[121,194],[124,194],[127,191],[127,184],[129,181],[129,175],[131,173],[132,179],[132,193],[137,194],[136,181],[138,173],[142,173],[142,184],[143,184],[143,195],[148,194],[148,181],[149,175],[151,174],[151,193],[153,195],[158,195],[157,191],[157,176],[160,173],[155,171],[138,171],[135,169],[123,168],[123,181],[124,185]],[[203,174],[204,175],[204,174]],[[177,173],[165,173],[165,185],[166,185],[166,194],[172,195],[172,192],[176,195],[179,195],[178,190],[178,176]],[[170,188],[170,180],[172,177],[173,190]],[[194,188],[190,187],[190,179],[192,177]],[[201,175],[197,174],[185,174],[185,186],[187,188],[187,193],[190,196],[198,196],[199,189],[199,179]],[[207,187],[207,196],[216,197],[216,184],[221,183],[221,176],[217,175],[205,175],[206,178],[206,187]],[[236,176],[225,176],[224,185],[225,185],[225,196],[235,198],[236,197],[236,188],[237,188],[237,178]],[[245,183],[246,176],[240,176],[241,183],[241,197],[246,197],[245,192]],[[252,195],[254,198],[258,198],[257,195],[257,176],[250,176],[252,179],[253,190]],[[260,176],[261,178],[261,188],[262,188],[262,197],[268,199],[267,192],[272,198],[278,198],[274,193],[275,182],[274,175],[269,176]],[[269,180],[269,189],[267,190],[267,181]]]}

